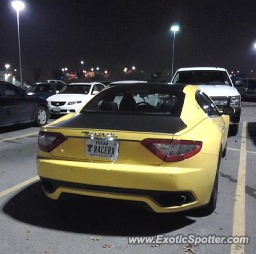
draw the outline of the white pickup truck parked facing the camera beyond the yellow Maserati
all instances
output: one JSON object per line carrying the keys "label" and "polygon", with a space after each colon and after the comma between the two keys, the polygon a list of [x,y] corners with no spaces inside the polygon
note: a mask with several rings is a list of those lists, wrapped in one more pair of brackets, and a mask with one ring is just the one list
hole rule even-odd
{"label": "white pickup truck parked facing the camera beyond the yellow Maserati", "polygon": [[173,76],[171,84],[198,86],[212,99],[220,112],[226,105],[234,107],[235,113],[230,119],[229,135],[237,134],[241,115],[241,96],[226,69],[218,67],[180,68]]}

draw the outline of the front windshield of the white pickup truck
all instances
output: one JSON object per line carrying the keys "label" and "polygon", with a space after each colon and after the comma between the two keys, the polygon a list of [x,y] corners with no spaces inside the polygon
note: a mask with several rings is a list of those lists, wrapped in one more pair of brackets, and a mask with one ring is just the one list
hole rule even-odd
{"label": "front windshield of the white pickup truck", "polygon": [[226,71],[216,70],[189,70],[178,71],[173,79],[173,84],[191,85],[226,85],[232,86]]}

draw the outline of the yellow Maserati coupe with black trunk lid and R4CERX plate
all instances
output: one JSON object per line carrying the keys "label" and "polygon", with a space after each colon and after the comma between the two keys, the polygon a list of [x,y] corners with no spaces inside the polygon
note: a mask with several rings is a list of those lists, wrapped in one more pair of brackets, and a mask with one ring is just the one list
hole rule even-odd
{"label": "yellow Maserati coupe with black trunk lid and R4CERX plate", "polygon": [[[174,103],[159,108],[144,94]],[[122,96],[118,106],[116,98]],[[145,202],[155,212],[215,210],[229,115],[191,85],[123,84],[102,90],[76,114],[41,128],[38,174],[45,194]]]}

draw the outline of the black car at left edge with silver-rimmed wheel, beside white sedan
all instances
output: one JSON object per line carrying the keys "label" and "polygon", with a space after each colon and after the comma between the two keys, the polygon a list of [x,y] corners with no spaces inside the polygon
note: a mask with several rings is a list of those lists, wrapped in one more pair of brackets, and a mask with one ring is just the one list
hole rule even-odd
{"label": "black car at left edge with silver-rimmed wheel, beside white sedan", "polygon": [[0,81],[0,127],[28,122],[42,126],[47,123],[48,114],[44,99],[33,98],[18,87]]}

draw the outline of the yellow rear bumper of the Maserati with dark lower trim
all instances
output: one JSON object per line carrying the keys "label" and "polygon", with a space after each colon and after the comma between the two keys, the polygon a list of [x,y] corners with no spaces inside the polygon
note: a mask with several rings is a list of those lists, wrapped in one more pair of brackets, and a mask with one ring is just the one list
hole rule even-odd
{"label": "yellow rear bumper of the Maserati with dark lower trim", "polygon": [[[209,202],[217,156],[204,156],[209,157],[205,158],[208,168],[41,158],[37,160],[37,166],[43,190],[52,199],[58,199],[61,193],[73,193],[145,202],[155,212],[178,212]],[[179,203],[180,196],[186,197],[186,201]]]}

